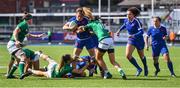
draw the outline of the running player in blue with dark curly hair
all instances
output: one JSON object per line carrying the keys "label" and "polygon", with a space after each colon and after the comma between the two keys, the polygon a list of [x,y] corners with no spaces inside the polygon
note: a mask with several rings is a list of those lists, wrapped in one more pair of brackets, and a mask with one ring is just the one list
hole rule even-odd
{"label": "running player in blue with dark curly hair", "polygon": [[148,67],[146,62],[146,57],[144,55],[144,38],[143,38],[143,29],[142,24],[137,19],[137,16],[140,14],[140,11],[136,7],[131,7],[127,10],[127,19],[124,20],[124,24],[116,32],[119,36],[120,31],[126,29],[128,31],[129,37],[126,46],[126,58],[137,68],[136,76],[139,76],[142,72],[141,67],[136,62],[135,58],[132,56],[135,48],[141,58],[141,61],[144,65],[144,76],[148,75]]}

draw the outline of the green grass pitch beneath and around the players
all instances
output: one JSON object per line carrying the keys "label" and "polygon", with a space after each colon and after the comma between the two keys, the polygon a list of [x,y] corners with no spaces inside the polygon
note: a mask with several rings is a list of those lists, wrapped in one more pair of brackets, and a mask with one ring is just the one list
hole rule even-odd
{"label": "green grass pitch beneath and around the players", "polygon": [[[45,54],[48,54],[57,62],[61,55],[69,53],[72,54],[73,46],[28,46],[31,50],[42,50]],[[7,52],[6,45],[0,45],[0,87],[62,87],[62,88],[119,88],[119,87],[176,87],[180,88],[180,47],[169,47],[170,57],[174,65],[174,71],[177,78],[172,78],[167,68],[166,62],[160,57],[161,72],[158,77],[154,77],[154,66],[151,56],[151,50],[145,51],[147,57],[147,63],[149,67],[148,77],[144,77],[143,72],[139,77],[135,77],[136,69],[125,58],[125,46],[116,46],[115,55],[116,60],[121,64],[123,70],[127,75],[127,80],[122,80],[117,70],[110,64],[107,54],[104,56],[104,60],[107,63],[109,71],[112,73],[112,79],[102,79],[99,74],[94,77],[85,78],[56,78],[48,79],[45,77],[29,76],[24,80],[19,79],[6,79],[7,64],[10,60],[10,56]],[[84,49],[81,55],[88,55]],[[143,68],[142,62],[135,51],[133,56],[136,58],[138,64]],[[41,67],[47,65],[47,62],[40,60]],[[15,72],[18,77],[19,71]]]}

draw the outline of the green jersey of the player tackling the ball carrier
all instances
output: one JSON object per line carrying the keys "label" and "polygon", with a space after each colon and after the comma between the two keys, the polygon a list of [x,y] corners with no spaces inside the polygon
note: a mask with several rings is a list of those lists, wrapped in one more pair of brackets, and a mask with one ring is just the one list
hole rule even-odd
{"label": "green jersey of the player tackling the ball carrier", "polygon": [[98,20],[90,21],[86,26],[85,30],[93,31],[97,37],[98,41],[101,41],[104,38],[110,38],[109,31],[105,28],[105,26],[99,22]]}

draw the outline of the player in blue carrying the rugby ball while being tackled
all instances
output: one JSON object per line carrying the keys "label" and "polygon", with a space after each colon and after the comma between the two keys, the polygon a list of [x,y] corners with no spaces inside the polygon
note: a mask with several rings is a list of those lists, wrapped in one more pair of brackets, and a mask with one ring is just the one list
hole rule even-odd
{"label": "player in blue carrying the rugby ball while being tackled", "polygon": [[[76,26],[71,27],[70,22],[75,22]],[[64,30],[73,30],[77,34],[77,39],[75,40],[75,48],[73,51],[73,58],[77,59],[85,46],[91,57],[95,57],[94,44],[89,31],[78,32],[76,31],[78,26],[83,26],[88,24],[88,19],[84,16],[82,8],[76,9],[76,16],[69,19],[69,21],[63,26]]]}

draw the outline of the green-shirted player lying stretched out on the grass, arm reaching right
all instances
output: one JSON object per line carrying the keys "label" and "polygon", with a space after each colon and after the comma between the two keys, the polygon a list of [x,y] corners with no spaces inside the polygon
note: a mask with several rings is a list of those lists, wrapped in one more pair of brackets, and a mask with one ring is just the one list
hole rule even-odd
{"label": "green-shirted player lying stretched out on the grass, arm reaching right", "polygon": [[40,57],[49,63],[47,67],[47,71],[40,70],[32,70],[28,69],[28,73],[23,75],[23,78],[29,76],[30,74],[35,74],[38,76],[45,76],[47,78],[62,78],[67,73],[76,74],[78,76],[84,77],[85,70],[87,69],[89,63],[82,67],[81,69],[76,69],[71,66],[71,63],[75,63],[70,54],[65,54],[61,57],[60,63],[57,64],[54,60],[52,60],[49,56],[40,54]]}

